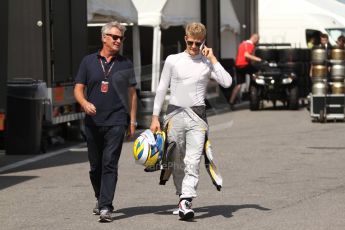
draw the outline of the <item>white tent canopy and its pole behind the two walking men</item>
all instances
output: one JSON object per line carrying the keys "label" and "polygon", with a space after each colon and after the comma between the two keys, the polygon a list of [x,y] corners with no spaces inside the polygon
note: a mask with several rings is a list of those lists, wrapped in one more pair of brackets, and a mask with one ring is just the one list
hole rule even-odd
{"label": "white tent canopy and its pole behind the two walking men", "polygon": [[[181,26],[188,22],[200,21],[200,0],[87,0],[87,3],[89,23],[118,20],[154,28],[152,91],[156,90],[159,81],[161,28]],[[229,37],[228,35],[230,34],[233,37],[234,34],[240,32],[240,25],[231,0],[221,0],[220,22],[221,30],[223,34],[225,33],[225,37]],[[138,39],[138,31],[135,33],[138,34],[136,36]],[[231,39],[231,43],[232,41],[233,39]],[[133,42],[133,45],[137,48],[140,47],[138,41]],[[140,53],[139,55],[138,53],[135,54],[134,57],[140,57]]]}

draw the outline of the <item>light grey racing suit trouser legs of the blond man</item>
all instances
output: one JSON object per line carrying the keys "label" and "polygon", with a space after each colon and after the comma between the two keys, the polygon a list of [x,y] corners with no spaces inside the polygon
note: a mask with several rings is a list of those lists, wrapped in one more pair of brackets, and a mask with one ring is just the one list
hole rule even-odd
{"label": "light grey racing suit trouser legs of the blond man", "polygon": [[199,169],[207,127],[186,111],[174,115],[169,122],[168,141],[175,141],[173,180],[180,198],[196,197]]}

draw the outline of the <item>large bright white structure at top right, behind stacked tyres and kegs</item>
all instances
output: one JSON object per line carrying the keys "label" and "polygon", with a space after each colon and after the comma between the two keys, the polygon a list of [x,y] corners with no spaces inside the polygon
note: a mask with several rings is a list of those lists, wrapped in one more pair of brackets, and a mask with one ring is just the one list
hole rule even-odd
{"label": "large bright white structure at top right, behind stacked tyres and kegs", "polygon": [[339,5],[343,4],[336,0],[260,0],[260,42],[291,43],[293,47],[306,48],[307,29],[326,33],[326,28],[345,27],[345,20],[343,23],[338,20],[343,16],[335,13]]}

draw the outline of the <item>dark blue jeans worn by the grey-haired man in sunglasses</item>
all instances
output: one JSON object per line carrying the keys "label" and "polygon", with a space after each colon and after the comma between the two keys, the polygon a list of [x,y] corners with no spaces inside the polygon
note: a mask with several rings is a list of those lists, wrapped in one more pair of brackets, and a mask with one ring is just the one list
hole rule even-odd
{"label": "dark blue jeans worn by the grey-haired man in sunglasses", "polygon": [[126,126],[86,126],[90,180],[101,209],[113,210]]}

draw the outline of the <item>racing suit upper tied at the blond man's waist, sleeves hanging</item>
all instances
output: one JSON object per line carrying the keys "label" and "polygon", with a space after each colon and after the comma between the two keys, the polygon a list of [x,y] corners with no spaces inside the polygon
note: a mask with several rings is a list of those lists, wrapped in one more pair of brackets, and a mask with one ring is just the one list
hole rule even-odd
{"label": "racing suit upper tied at the blond man's waist, sleeves hanging", "polygon": [[[200,124],[205,126],[205,129],[208,130],[208,124],[206,122],[206,109],[205,106],[202,109],[201,106],[196,106],[192,108],[182,108],[174,105],[169,105],[167,110],[167,115],[164,119],[164,130],[167,132],[166,135],[168,136],[169,132],[169,121],[173,116],[176,114],[184,111],[186,112],[193,120],[199,122]],[[202,111],[204,110],[204,111]],[[165,185],[165,183],[169,180],[170,175],[172,174],[173,170],[173,163],[172,162],[172,154],[174,152],[174,148],[176,146],[175,142],[169,142],[166,145],[166,151],[162,158],[162,170],[160,175],[160,183],[161,185]],[[212,153],[212,147],[211,143],[208,139],[208,135],[206,132],[205,136],[205,143],[204,143],[204,149],[203,149],[203,155],[205,158],[205,167],[206,170],[211,177],[212,183],[216,186],[217,190],[220,191],[223,185],[223,179],[220,175],[220,172],[217,168],[217,166],[214,163],[213,153]]]}

